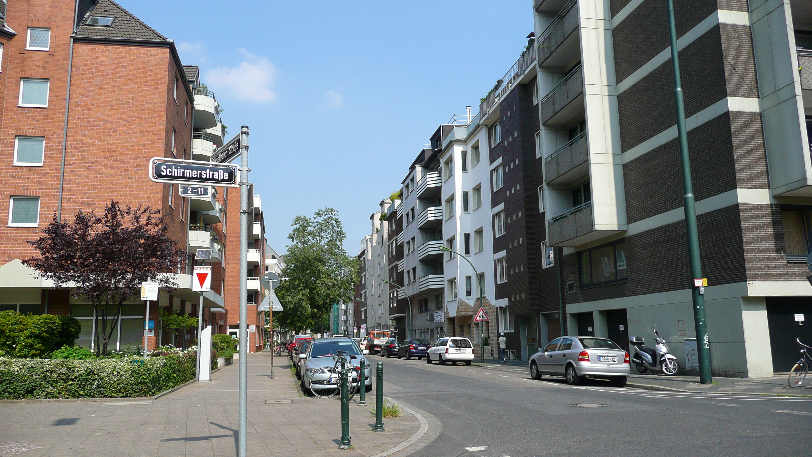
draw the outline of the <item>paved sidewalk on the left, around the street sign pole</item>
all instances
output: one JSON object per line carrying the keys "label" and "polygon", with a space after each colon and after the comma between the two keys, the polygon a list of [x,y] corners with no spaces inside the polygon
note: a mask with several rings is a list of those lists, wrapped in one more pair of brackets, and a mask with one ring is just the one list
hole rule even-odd
{"label": "paved sidewalk on the left, around the street sign pole", "polygon": [[[356,394],[350,404],[355,447],[338,450],[338,398],[304,397],[287,357],[274,357],[274,379],[270,361],[269,352],[248,355],[248,455],[368,457],[398,446],[420,427],[417,417],[407,414],[384,420],[386,432],[373,432],[369,409],[375,393],[367,395],[367,407],[357,405]],[[19,455],[31,457],[233,456],[237,378],[235,363],[214,372],[211,382],[195,382],[155,400],[2,403],[0,455],[21,450]]]}

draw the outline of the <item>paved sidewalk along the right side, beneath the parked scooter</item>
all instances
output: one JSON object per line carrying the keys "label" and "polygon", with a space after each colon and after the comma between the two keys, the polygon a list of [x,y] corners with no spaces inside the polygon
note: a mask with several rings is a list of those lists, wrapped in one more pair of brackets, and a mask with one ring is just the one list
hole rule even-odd
{"label": "paved sidewalk along the right side, beneath the parked scooter", "polygon": [[[486,359],[485,363],[474,360],[473,365],[513,372],[525,371],[529,374],[527,362],[521,360]],[[544,376],[544,379],[564,382],[563,378]],[[713,378],[714,384],[699,384],[699,376],[665,376],[663,374],[641,374],[632,367],[632,374],[628,376],[628,387],[645,390],[666,390],[682,392],[709,392],[716,394],[766,394],[766,395],[812,395],[812,376],[806,381],[809,385],[790,388],[787,375],[771,377],[719,377]],[[585,380],[585,384],[602,385],[603,381]]]}

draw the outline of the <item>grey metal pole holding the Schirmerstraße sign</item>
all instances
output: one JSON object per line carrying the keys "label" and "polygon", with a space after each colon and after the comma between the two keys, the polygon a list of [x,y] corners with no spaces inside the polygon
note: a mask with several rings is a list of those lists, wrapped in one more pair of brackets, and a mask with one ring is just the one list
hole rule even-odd
{"label": "grey metal pole holding the Schirmerstra\u00dfe sign", "polygon": [[240,405],[237,455],[246,455],[248,432],[248,125],[240,128]]}

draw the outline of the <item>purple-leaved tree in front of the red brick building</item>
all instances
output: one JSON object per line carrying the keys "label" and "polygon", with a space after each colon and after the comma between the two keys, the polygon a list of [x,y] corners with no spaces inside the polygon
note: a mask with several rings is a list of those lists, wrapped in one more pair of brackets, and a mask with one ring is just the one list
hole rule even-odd
{"label": "purple-leaved tree in front of the red brick building", "polygon": [[181,272],[187,253],[167,231],[160,210],[122,208],[111,200],[103,215],[79,210],[72,223],[54,214],[42,230],[45,235],[28,242],[40,256],[23,263],[54,281],[54,287],[69,287],[75,298],[93,303],[94,346],[106,355],[122,304],[140,297],[142,281],[152,278],[162,288],[177,287],[171,273]]}

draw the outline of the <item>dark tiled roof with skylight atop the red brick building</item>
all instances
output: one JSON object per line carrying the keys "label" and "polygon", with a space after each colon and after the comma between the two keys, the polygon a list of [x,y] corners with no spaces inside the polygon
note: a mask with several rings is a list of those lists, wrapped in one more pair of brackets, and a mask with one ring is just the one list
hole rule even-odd
{"label": "dark tiled roof with skylight atop the red brick building", "polygon": [[[113,16],[115,20],[110,27],[85,24],[91,15]],[[166,41],[166,37],[155,29],[144,24],[130,11],[120,7],[113,0],[99,0],[96,6],[90,9],[80,22],[77,37],[115,38],[123,40],[158,40]]]}

